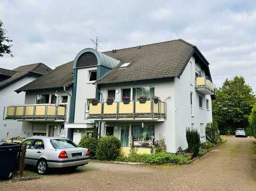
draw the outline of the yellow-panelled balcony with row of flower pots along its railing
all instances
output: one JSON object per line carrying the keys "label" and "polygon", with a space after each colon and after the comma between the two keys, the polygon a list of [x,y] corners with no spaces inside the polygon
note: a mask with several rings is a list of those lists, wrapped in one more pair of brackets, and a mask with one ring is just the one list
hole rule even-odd
{"label": "yellow-panelled balcony with row of flower pots along its railing", "polygon": [[148,100],[146,103],[139,101],[130,101],[129,104],[124,104],[123,101],[113,102],[112,105],[107,103],[98,103],[94,106],[89,104],[89,115],[87,119],[100,121],[165,121],[166,103],[159,101],[157,104],[154,101]]}

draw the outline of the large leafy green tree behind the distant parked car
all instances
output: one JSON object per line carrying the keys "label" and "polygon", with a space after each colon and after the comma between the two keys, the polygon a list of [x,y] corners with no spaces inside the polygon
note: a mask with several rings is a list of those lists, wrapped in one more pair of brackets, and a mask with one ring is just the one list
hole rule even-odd
{"label": "large leafy green tree behind the distant parked car", "polygon": [[222,134],[234,133],[237,128],[248,128],[249,115],[256,102],[255,93],[242,76],[226,79],[216,91],[213,117]]}

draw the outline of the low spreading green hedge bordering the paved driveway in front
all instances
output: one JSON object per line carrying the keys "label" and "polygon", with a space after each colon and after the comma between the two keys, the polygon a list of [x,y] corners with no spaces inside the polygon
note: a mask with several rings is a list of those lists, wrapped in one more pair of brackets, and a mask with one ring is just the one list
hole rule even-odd
{"label": "low spreading green hedge bordering the paved driveway in front", "polygon": [[154,154],[137,154],[137,153],[130,153],[128,157],[120,156],[117,158],[118,161],[123,162],[140,162],[145,164],[186,164],[190,160],[189,155],[176,155],[167,152],[161,153],[154,153]]}

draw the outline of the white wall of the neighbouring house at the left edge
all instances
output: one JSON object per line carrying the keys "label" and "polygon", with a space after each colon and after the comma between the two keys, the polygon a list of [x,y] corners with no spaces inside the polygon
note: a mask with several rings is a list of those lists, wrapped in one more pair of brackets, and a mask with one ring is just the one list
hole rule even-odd
{"label": "white wall of the neighbouring house at the left edge", "polygon": [[34,76],[28,76],[0,90],[0,140],[7,138],[7,133],[8,138],[21,136],[21,122],[14,120],[3,120],[4,107],[24,104],[25,92],[17,93],[14,91],[25,84],[32,82],[36,78],[37,77]]}

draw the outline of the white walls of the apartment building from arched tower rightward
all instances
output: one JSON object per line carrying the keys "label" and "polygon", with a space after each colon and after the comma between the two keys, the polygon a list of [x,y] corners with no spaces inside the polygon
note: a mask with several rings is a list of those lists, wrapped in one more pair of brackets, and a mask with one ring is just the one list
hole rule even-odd
{"label": "white walls of the apartment building from arched tower rightward", "polygon": [[[205,72],[195,58],[192,56],[183,73],[179,77],[148,80],[147,82],[131,82],[120,84],[101,84],[100,101],[106,102],[108,90],[115,90],[115,101],[122,101],[122,89],[131,89],[131,99],[134,95],[132,88],[154,87],[154,95],[166,102],[166,118],[164,121],[156,120],[100,120],[99,135],[106,136],[107,128],[113,127],[113,135],[121,139],[121,127],[129,127],[129,135],[132,135],[132,125],[149,125],[154,127],[154,138],[165,139],[166,150],[176,153],[178,147],[187,148],[186,128],[197,128],[201,135],[201,141],[205,141],[205,126],[212,122],[211,96],[199,93],[196,86],[196,73],[205,76]],[[78,127],[82,124],[90,124],[92,120],[86,120],[86,99],[95,97],[95,85],[88,82],[88,71],[94,68],[83,68],[77,70],[77,89],[75,99],[74,123]],[[95,68],[96,69],[96,68]],[[192,104],[190,103],[190,93],[192,93]],[[113,96],[112,91],[112,96]],[[202,99],[202,107],[199,107],[199,96]],[[208,108],[206,109],[206,99]],[[80,124],[80,126],[79,126]],[[142,125],[143,124],[143,125]],[[74,133],[81,133],[85,129],[74,130]],[[77,138],[77,137],[76,137]]]}

